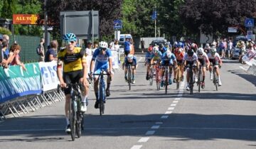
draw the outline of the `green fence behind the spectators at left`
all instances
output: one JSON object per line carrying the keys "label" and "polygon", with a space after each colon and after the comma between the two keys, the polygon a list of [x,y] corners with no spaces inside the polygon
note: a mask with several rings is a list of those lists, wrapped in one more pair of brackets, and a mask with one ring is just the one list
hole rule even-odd
{"label": "green fence behind the spectators at left", "polygon": [[20,57],[22,62],[38,62],[39,56],[36,53],[36,47],[40,43],[40,37],[27,35],[10,35],[10,45],[12,43],[21,45]]}

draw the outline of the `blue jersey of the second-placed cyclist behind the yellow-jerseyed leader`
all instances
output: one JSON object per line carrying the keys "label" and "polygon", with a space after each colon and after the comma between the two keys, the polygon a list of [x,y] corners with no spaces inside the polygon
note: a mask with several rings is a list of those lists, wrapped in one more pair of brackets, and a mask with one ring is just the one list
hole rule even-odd
{"label": "blue jersey of the second-placed cyclist behind the yellow-jerseyed leader", "polygon": [[100,48],[97,48],[92,55],[92,60],[95,60],[95,70],[106,70],[109,67],[110,58],[112,58],[112,53],[109,48],[105,55],[101,53]]}

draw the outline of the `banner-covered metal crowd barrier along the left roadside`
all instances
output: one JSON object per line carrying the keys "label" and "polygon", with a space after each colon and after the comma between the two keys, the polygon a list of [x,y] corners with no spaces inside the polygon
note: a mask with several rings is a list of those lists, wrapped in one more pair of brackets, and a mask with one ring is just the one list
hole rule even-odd
{"label": "banner-covered metal crowd barrier along the left roadside", "polygon": [[[119,72],[122,69],[117,52],[112,51],[112,54],[113,71]],[[88,66],[91,59],[87,57]],[[17,65],[8,69],[0,67],[0,121],[4,121],[6,115],[18,117],[65,99],[62,91],[57,92],[57,62],[33,62],[25,67],[26,71]],[[92,80],[87,79],[90,90],[93,90]]]}

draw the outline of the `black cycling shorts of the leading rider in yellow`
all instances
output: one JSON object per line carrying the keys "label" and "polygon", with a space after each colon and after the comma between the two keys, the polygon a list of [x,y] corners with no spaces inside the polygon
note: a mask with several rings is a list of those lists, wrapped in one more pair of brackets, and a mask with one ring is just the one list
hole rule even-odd
{"label": "black cycling shorts of the leading rider in yellow", "polygon": [[[82,70],[76,70],[73,72],[63,72],[63,79],[66,84],[75,84],[79,83],[79,79],[83,77],[83,71]],[[64,93],[70,94],[70,87],[64,89]]]}

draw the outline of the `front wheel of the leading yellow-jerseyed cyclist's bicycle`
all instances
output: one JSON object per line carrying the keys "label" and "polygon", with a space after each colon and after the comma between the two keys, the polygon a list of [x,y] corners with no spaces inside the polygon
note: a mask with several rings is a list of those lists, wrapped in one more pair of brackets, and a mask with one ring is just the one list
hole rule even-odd
{"label": "front wheel of the leading yellow-jerseyed cyclist's bicycle", "polygon": [[75,101],[70,99],[70,106],[69,106],[69,116],[70,116],[70,129],[71,129],[71,138],[75,140]]}

